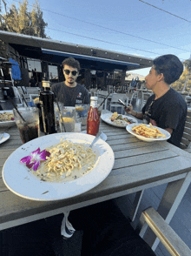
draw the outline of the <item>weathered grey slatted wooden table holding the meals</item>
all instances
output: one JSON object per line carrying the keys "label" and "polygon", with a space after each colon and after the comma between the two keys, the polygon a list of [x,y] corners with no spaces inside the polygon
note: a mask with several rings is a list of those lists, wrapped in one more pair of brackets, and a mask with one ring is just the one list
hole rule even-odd
{"label": "weathered grey slatted wooden table holding the meals", "polygon": [[[107,179],[82,195],[49,202],[23,199],[10,192],[3,184],[0,172],[0,230],[132,192],[137,192],[135,206],[138,207],[144,189],[165,183],[168,186],[158,212],[169,223],[191,181],[190,154],[166,141],[143,142],[124,128],[116,128],[103,122],[100,130],[108,136],[107,142],[115,153],[115,165]],[[0,168],[3,169],[6,159],[22,142],[16,126],[0,131],[10,133],[10,139],[0,145]],[[154,243],[153,238],[150,244],[154,244],[155,249],[157,242]]]}

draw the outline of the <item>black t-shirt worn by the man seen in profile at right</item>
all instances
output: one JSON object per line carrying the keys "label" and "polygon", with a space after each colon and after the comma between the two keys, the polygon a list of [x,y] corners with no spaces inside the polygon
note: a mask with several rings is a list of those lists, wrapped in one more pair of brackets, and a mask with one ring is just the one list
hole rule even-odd
{"label": "black t-shirt worn by the man seen in profile at right", "polygon": [[173,145],[179,146],[184,131],[187,118],[187,104],[181,94],[170,88],[161,98],[155,100],[155,94],[148,98],[147,103],[142,108],[142,114],[148,111],[149,105],[154,101],[150,108],[150,118],[154,119],[157,126],[162,129],[171,128],[173,132],[168,139]]}

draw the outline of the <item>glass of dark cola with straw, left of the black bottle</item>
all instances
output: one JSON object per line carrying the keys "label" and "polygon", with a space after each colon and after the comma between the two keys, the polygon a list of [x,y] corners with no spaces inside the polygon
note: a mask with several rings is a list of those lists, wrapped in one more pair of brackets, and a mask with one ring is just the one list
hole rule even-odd
{"label": "glass of dark cola with straw, left of the black bottle", "polygon": [[39,137],[39,111],[36,107],[13,109],[16,126],[23,143]]}

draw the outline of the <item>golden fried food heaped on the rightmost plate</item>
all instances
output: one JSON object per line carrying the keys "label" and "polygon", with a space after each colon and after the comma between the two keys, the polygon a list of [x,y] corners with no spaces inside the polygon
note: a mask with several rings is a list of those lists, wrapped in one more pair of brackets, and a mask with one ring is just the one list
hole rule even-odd
{"label": "golden fried food heaped on the rightmost plate", "polygon": [[153,125],[149,124],[150,127],[147,125],[135,125],[132,128],[132,131],[134,131],[137,135],[142,135],[146,138],[160,138],[160,137],[166,137],[166,135],[162,134],[161,131],[159,131],[157,128],[155,128]]}

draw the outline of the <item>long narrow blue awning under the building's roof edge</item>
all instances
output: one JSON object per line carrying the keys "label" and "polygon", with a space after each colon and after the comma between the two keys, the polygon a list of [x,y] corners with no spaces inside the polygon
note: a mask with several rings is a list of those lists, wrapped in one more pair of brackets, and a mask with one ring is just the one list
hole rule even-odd
{"label": "long narrow blue awning under the building's roof edge", "polygon": [[[134,68],[139,68],[140,64],[135,64],[135,63],[130,63],[130,62],[124,62],[120,60],[113,60],[105,57],[93,57],[93,56],[88,56],[88,55],[82,55],[82,54],[77,54],[77,53],[72,53],[72,52],[65,52],[65,51],[54,51],[54,50],[49,50],[49,49],[43,49],[42,48],[43,54],[50,54],[52,56],[57,56],[57,57],[75,57],[76,59],[80,59],[80,63],[82,63],[82,59],[89,60],[92,64],[94,63],[95,66],[100,66],[102,64],[112,64],[115,65],[115,69],[120,67],[119,69],[126,69],[128,66],[134,67]],[[99,64],[102,63],[102,64]]]}

